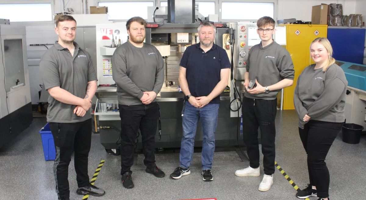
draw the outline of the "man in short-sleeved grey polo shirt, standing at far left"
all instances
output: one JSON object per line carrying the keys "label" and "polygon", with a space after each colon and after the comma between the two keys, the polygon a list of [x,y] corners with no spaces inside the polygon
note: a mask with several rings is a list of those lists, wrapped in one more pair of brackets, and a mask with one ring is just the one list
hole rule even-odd
{"label": "man in short-sleeved grey polo shirt, standing at far left", "polygon": [[68,165],[74,149],[79,195],[102,196],[104,191],[91,185],[88,155],[91,142],[91,99],[97,89],[97,77],[90,55],[74,42],[76,21],[61,15],[56,20],[59,40],[41,58],[40,72],[49,92],[47,121],[56,147],[54,175],[57,196],[70,199]]}

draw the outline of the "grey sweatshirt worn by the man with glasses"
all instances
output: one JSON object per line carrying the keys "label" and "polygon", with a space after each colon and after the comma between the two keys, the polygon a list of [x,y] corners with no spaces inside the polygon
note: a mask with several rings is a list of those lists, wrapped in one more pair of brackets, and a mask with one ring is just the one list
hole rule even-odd
{"label": "grey sweatshirt worn by the man with glasses", "polygon": [[[246,70],[249,72],[249,79],[257,81],[262,86],[273,85],[283,79],[294,80],[294,64],[288,51],[276,42],[262,47],[262,43],[251,47],[246,61]],[[251,99],[276,99],[280,90],[269,93],[250,94],[245,96]]]}

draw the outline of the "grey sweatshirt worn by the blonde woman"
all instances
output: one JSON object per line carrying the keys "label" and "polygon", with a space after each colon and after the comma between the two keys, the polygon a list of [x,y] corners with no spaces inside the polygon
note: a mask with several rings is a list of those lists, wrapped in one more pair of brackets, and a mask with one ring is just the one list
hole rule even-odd
{"label": "grey sweatshirt worn by the blonde woman", "polygon": [[304,128],[306,114],[310,120],[344,122],[347,80],[342,68],[332,64],[323,72],[315,65],[307,66],[299,76],[294,93],[299,127]]}

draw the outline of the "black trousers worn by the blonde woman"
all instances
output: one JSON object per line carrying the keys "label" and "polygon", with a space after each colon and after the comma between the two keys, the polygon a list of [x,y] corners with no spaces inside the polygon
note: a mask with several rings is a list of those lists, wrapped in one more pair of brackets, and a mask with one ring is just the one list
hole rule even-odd
{"label": "black trousers worn by the blonde woman", "polygon": [[317,187],[318,197],[329,197],[329,171],[325,157],[343,123],[310,120],[299,128],[301,142],[307,154],[310,185]]}

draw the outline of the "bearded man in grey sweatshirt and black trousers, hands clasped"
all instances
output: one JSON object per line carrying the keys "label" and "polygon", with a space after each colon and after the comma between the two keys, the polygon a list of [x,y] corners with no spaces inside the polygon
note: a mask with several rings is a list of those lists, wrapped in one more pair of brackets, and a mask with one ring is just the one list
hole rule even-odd
{"label": "bearded man in grey sweatshirt and black trousers, hands clasped", "polygon": [[146,172],[164,177],[155,164],[155,134],[159,116],[156,95],[164,82],[164,61],[159,51],[144,43],[146,21],[133,17],[127,21],[129,41],[117,47],[112,56],[113,80],[117,85],[121,118],[121,175],[125,188],[133,188],[131,166],[135,139],[141,131]]}

